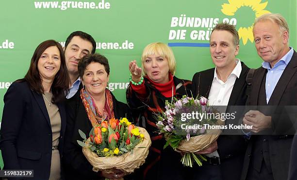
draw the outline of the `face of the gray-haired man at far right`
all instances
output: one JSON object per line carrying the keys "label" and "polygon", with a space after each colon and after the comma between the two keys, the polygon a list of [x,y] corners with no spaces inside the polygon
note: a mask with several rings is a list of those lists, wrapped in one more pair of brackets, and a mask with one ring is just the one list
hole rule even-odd
{"label": "face of the gray-haired man at far right", "polygon": [[289,51],[288,32],[271,20],[257,22],[253,34],[258,55],[271,67]]}

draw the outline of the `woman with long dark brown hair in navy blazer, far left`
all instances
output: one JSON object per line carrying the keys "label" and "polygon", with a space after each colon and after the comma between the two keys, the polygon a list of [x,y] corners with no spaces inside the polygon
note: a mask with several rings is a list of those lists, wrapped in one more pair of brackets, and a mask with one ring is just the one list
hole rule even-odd
{"label": "woman with long dark brown hair in navy blazer, far left", "polygon": [[[60,180],[69,86],[62,46],[47,40],[30,68],[4,95],[0,129],[3,169],[34,170],[33,180]],[[24,178],[20,178],[24,179]]]}

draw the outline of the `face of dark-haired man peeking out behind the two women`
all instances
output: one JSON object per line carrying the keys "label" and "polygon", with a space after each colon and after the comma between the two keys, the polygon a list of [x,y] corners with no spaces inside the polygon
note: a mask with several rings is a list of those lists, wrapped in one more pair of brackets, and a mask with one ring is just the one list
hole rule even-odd
{"label": "face of dark-haired man peeking out behind the two women", "polygon": [[65,49],[65,58],[68,72],[78,74],[78,63],[86,54],[92,52],[93,45],[90,41],[74,36]]}

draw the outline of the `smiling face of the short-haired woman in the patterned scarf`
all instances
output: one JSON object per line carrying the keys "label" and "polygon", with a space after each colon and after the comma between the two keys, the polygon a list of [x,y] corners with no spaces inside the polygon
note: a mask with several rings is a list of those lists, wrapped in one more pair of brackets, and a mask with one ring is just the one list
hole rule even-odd
{"label": "smiling face of the short-haired woman in the patterned scarf", "polygon": [[105,71],[104,65],[98,62],[87,65],[82,76],[82,84],[91,96],[105,93],[108,80],[109,74]]}

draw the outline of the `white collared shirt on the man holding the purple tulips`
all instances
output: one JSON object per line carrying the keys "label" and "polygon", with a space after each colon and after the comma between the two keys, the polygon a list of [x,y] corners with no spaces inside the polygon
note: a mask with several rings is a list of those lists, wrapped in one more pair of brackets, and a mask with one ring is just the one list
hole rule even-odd
{"label": "white collared shirt on the man holding the purple tulips", "polygon": [[[236,66],[228,76],[227,81],[224,83],[220,80],[216,73],[216,67],[214,69],[214,79],[212,83],[211,90],[208,95],[209,104],[212,106],[226,106],[223,111],[226,111],[231,92],[236,81],[236,78],[239,78],[241,73],[241,62],[239,59],[236,59]],[[210,154],[206,154],[207,157],[219,157],[217,150]]]}

